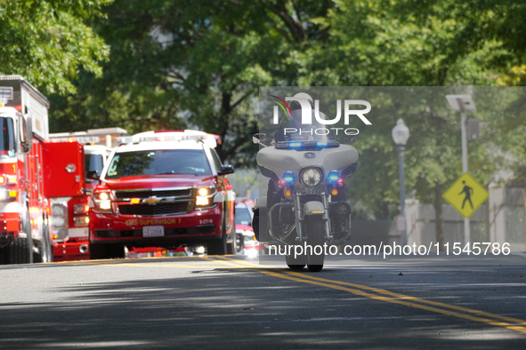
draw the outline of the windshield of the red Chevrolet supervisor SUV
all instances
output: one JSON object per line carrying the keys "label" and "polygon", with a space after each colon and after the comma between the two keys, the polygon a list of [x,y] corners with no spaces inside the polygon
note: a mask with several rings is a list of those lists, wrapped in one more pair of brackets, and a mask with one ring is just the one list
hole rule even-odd
{"label": "windshield of the red Chevrolet supervisor SUV", "polygon": [[212,171],[202,149],[136,151],[116,153],[106,179],[163,174],[212,175]]}

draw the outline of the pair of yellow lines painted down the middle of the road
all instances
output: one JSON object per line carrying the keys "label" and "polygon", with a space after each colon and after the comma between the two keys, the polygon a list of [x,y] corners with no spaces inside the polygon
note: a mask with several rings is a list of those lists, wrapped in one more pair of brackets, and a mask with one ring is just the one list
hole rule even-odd
{"label": "pair of yellow lines painted down the middle of the road", "polygon": [[[366,285],[341,282],[335,280],[328,280],[325,278],[315,277],[312,274],[302,274],[294,271],[278,271],[277,269],[269,270],[263,269],[261,267],[273,268],[271,266],[259,266],[253,263],[249,263],[243,260],[230,259],[227,257],[215,257],[218,259],[211,258],[202,258],[208,261],[221,262],[228,266],[251,266],[254,268],[254,271],[260,272],[262,274],[268,274],[273,277],[278,277],[284,280],[302,282],[308,284],[315,284],[321,287],[327,287],[333,290],[343,290],[354,295],[359,295],[364,298],[372,298],[376,300],[381,300],[387,303],[398,304],[403,306],[415,307],[422,310],[431,311],[437,314],[447,314],[449,316],[454,316],[462,318],[465,320],[470,320],[474,322],[487,323],[492,326],[504,327],[508,330],[516,330],[522,333],[526,333],[526,321],[502,316],[500,314],[490,314],[484,311],[475,310],[463,306],[449,305],[445,303],[440,303],[432,300],[425,300],[422,298],[410,297],[408,295],[394,293],[389,290],[382,290],[374,287],[368,287]],[[256,268],[259,267],[259,268]],[[350,288],[352,287],[352,288]],[[367,290],[367,291],[365,291]],[[506,322],[505,322],[506,321]]]}

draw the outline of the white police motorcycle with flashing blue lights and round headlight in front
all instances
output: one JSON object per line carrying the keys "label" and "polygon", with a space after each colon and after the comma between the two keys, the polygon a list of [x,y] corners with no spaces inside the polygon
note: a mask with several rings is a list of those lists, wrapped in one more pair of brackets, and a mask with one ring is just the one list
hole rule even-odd
{"label": "white police motorcycle with flashing blue lights and round headlight in front", "polygon": [[[285,255],[293,270],[306,265],[312,272],[321,271],[328,251],[337,251],[351,234],[344,179],[355,171],[358,152],[340,144],[335,131],[324,126],[312,123],[302,132],[287,128],[288,135],[276,137],[287,133],[280,128],[271,145],[265,145],[263,133],[253,137],[261,146],[256,162],[262,175],[270,178],[267,196],[255,200],[256,239],[279,250],[272,255]],[[345,142],[356,139],[346,136]]]}

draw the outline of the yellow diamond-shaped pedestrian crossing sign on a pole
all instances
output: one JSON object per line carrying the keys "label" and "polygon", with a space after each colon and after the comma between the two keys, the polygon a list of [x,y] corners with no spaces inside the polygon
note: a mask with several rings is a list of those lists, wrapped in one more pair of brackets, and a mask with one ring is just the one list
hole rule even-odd
{"label": "yellow diamond-shaped pedestrian crossing sign on a pole", "polygon": [[442,198],[451,204],[460,215],[471,218],[489,196],[486,188],[482,187],[469,172],[465,172],[444,192]]}

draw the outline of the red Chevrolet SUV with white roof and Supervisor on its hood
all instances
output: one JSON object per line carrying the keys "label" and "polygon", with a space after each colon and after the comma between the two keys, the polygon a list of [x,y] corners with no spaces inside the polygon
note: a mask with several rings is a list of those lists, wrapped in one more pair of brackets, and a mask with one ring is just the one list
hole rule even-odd
{"label": "red Chevrolet SUV with white roof and Supervisor on its hood", "polygon": [[122,258],[125,247],[206,245],[235,253],[234,170],[202,131],[149,131],[122,139],[90,198],[91,259]]}

